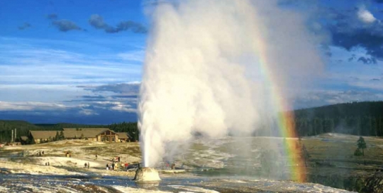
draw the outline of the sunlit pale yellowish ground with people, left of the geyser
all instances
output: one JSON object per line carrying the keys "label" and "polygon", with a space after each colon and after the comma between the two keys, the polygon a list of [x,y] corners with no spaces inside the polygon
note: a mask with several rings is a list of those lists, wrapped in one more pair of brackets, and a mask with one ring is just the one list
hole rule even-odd
{"label": "sunlit pale yellowish ground with people, left of the geyser", "polygon": [[[39,152],[44,152],[39,156]],[[70,157],[65,156],[70,153]],[[96,158],[97,155],[97,158]],[[87,140],[62,140],[37,145],[5,146],[0,150],[0,165],[11,173],[45,175],[134,175],[126,171],[106,170],[112,158],[125,162],[140,162],[138,143],[100,143]],[[49,162],[49,166],[47,166]],[[84,168],[89,163],[90,167]],[[134,172],[133,172],[134,173]]]}

